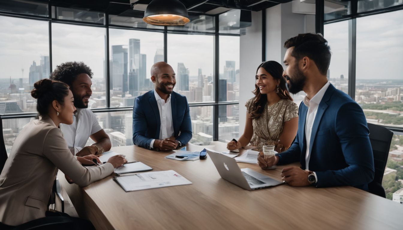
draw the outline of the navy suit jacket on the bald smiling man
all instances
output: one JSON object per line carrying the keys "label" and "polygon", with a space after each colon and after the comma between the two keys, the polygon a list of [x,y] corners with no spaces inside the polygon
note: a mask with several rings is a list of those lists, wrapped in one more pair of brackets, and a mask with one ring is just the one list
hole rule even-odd
{"label": "navy suit jacket on the bald smiling man", "polygon": [[[172,92],[171,110],[175,138],[186,145],[192,138],[189,104],[185,96]],[[149,149],[152,139],[160,138],[160,111],[154,89],[138,96],[133,106],[133,143]]]}

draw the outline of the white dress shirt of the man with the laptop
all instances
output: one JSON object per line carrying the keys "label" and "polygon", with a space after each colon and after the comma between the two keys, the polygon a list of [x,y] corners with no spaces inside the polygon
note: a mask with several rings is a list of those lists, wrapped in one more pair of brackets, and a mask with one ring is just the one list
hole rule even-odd
{"label": "white dress shirt of the man with the laptop", "polygon": [[[305,167],[306,170],[309,170],[309,160],[311,158],[311,152],[309,151],[312,126],[314,125],[316,113],[318,112],[318,106],[320,101],[322,101],[323,95],[328,89],[330,82],[326,82],[326,84],[316,93],[311,99],[307,96],[303,99],[303,104],[308,107],[308,111],[305,119],[305,141],[306,141],[306,153],[305,153]],[[316,177],[316,173],[314,172],[316,182],[318,182],[318,178]]]}

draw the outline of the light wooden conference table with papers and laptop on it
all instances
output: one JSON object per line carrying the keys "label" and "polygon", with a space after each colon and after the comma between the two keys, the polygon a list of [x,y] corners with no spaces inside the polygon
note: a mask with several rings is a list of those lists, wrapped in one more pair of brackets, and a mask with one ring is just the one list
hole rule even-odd
{"label": "light wooden conference table with papers and laptop on it", "polygon": [[[187,146],[191,151],[206,147]],[[207,147],[225,151],[226,144],[215,141]],[[172,152],[134,145],[112,150],[154,171],[175,170],[193,184],[125,192],[109,176],[80,188],[68,184],[59,172],[77,213],[96,229],[403,229],[403,205],[353,187],[283,184],[247,191],[222,179],[210,157],[181,162],[164,158]],[[278,180],[287,167],[238,165]]]}

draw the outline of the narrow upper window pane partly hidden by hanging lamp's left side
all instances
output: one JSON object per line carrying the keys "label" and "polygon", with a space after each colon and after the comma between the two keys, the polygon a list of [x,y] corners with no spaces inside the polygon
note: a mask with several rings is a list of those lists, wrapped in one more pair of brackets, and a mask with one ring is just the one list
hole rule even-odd
{"label": "narrow upper window pane partly hidden by hanging lamp's left side", "polygon": [[147,29],[164,29],[163,26],[147,24],[143,21],[143,14],[141,15],[109,15],[110,25],[122,25],[133,28],[147,28]]}

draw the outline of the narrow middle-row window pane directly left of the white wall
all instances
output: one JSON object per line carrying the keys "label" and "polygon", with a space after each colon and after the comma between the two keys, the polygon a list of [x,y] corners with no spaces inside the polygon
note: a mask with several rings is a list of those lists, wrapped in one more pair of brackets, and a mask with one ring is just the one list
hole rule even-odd
{"label": "narrow middle-row window pane directly left of the white wall", "polygon": [[220,36],[219,39],[219,102],[239,100],[239,38]]}

